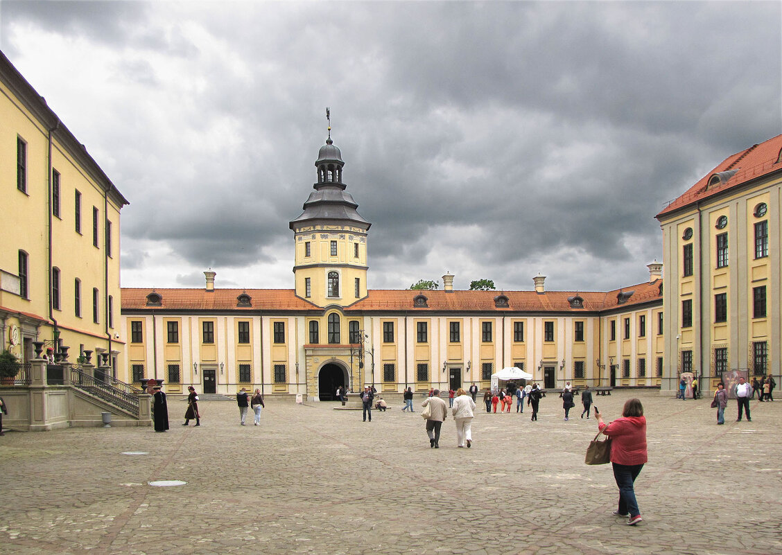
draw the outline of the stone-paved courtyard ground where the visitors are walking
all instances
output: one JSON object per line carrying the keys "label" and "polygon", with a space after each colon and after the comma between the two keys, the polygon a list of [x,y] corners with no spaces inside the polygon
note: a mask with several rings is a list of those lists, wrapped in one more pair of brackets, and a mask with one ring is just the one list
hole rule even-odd
{"label": "stone-paved courtyard ground where the visitors are walking", "polygon": [[583,464],[597,426],[579,403],[568,422],[553,396],[537,422],[479,403],[472,449],[457,449],[451,418],[430,449],[400,406],[364,423],[270,399],[256,427],[215,401],[184,428],[170,398],[165,434],[0,438],[0,553],[782,553],[782,401],[753,401],[738,423],[730,401],[724,426],[709,399],[615,392],[597,406],[612,419],[633,395],[649,442],[637,527],[611,515],[610,465]]}

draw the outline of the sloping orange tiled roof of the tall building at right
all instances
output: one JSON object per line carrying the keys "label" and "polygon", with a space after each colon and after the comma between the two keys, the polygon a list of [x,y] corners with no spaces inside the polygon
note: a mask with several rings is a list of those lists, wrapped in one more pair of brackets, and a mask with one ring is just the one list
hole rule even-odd
{"label": "sloping orange tiled roof of the tall building at right", "polygon": [[694,184],[678,199],[671,202],[656,218],[669,213],[676,212],[695,202],[708,199],[719,193],[730,191],[732,188],[782,170],[782,134],[759,145],[752,145],[746,150],[737,152],[701,177],[698,183]]}

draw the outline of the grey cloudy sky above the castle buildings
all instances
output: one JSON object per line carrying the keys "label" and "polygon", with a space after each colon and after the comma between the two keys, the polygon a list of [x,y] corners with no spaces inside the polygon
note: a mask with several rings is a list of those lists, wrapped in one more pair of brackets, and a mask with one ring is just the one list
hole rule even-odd
{"label": "grey cloudy sky above the castle buildings", "polygon": [[[0,49],[131,205],[122,285],[292,288],[327,136],[370,288],[608,290],[782,132],[780,2],[13,2]],[[442,287],[442,282],[440,283]]]}

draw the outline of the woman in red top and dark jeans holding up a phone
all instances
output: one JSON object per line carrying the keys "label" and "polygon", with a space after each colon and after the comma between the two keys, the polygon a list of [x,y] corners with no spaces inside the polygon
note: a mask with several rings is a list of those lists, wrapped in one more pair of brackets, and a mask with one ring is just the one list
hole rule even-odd
{"label": "woman in red top and dark jeans holding up a phone", "polygon": [[605,424],[595,411],[597,428],[611,438],[611,464],[619,486],[619,507],[613,512],[617,517],[629,517],[627,524],[637,525],[641,520],[633,482],[647,462],[646,418],[644,406],[638,399],[628,399],[622,409],[622,417]]}

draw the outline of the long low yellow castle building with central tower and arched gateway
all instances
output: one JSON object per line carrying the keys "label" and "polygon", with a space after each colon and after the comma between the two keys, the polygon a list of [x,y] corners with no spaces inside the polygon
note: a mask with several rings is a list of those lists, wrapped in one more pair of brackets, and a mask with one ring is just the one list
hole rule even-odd
{"label": "long low yellow castle building with central tower and arched gateway", "polygon": [[163,379],[168,392],[240,387],[332,399],[344,385],[379,392],[489,387],[503,367],[546,388],[656,387],[663,373],[662,264],[612,292],[368,288],[371,224],[346,191],[331,136],[314,192],[293,231],[294,288],[123,288],[127,380]]}

